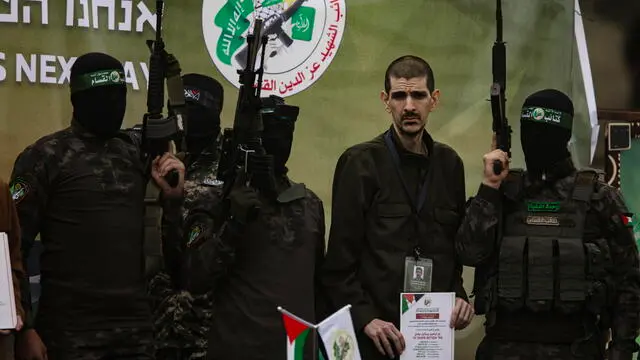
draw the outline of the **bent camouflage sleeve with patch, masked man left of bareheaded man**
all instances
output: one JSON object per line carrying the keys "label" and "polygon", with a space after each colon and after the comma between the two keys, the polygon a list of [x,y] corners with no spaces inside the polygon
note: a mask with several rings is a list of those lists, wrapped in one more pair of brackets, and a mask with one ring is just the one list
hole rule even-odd
{"label": "bent camouflage sleeve with patch, masked man left of bareheaded man", "polygon": [[235,259],[237,231],[230,222],[216,226],[210,212],[193,211],[186,221],[183,283],[189,292],[204,294],[215,288]]}

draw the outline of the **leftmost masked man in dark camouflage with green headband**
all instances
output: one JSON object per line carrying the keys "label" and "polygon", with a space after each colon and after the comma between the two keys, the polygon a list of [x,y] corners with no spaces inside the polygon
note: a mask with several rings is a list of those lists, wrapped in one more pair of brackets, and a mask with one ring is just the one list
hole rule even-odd
{"label": "leftmost masked man in dark camouflage with green headband", "polygon": [[[153,359],[142,238],[148,174],[120,132],[122,63],[102,53],[80,56],[70,90],[71,125],[28,146],[11,176],[24,262],[38,233],[44,246],[42,296],[19,336],[18,357]],[[182,198],[182,162],[166,153],[150,170],[167,216],[179,217],[173,205]],[[163,178],[171,170],[180,175],[175,188]],[[24,293],[27,310],[30,303]]]}

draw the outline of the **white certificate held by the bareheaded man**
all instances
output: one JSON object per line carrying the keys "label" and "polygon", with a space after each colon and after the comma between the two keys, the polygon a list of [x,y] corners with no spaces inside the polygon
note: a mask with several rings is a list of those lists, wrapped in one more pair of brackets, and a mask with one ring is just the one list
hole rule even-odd
{"label": "white certificate held by the bareheaded man", "polygon": [[449,325],[455,293],[400,294],[400,332],[406,348],[400,360],[453,360]]}

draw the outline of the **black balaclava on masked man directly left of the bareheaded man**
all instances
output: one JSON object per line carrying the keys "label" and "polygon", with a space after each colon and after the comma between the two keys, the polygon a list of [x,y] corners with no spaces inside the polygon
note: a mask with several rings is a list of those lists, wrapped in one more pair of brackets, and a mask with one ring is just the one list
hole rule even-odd
{"label": "black balaclava on masked man directly left of the bareheaded man", "polygon": [[300,108],[285,105],[282,98],[262,98],[262,145],[267,154],[273,156],[276,176],[287,173],[287,161],[293,145],[293,131]]}

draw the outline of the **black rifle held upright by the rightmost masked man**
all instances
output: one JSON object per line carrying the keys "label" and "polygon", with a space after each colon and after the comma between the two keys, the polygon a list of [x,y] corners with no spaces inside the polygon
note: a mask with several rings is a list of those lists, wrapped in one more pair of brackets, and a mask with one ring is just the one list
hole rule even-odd
{"label": "black rifle held upright by the rightmost masked man", "polygon": [[[511,126],[505,113],[507,89],[507,50],[502,41],[502,1],[496,0],[496,41],[492,49],[493,84],[491,84],[491,112],[493,114],[493,132],[496,134],[496,147],[511,157]],[[499,160],[493,162],[493,172],[502,173]]]}

